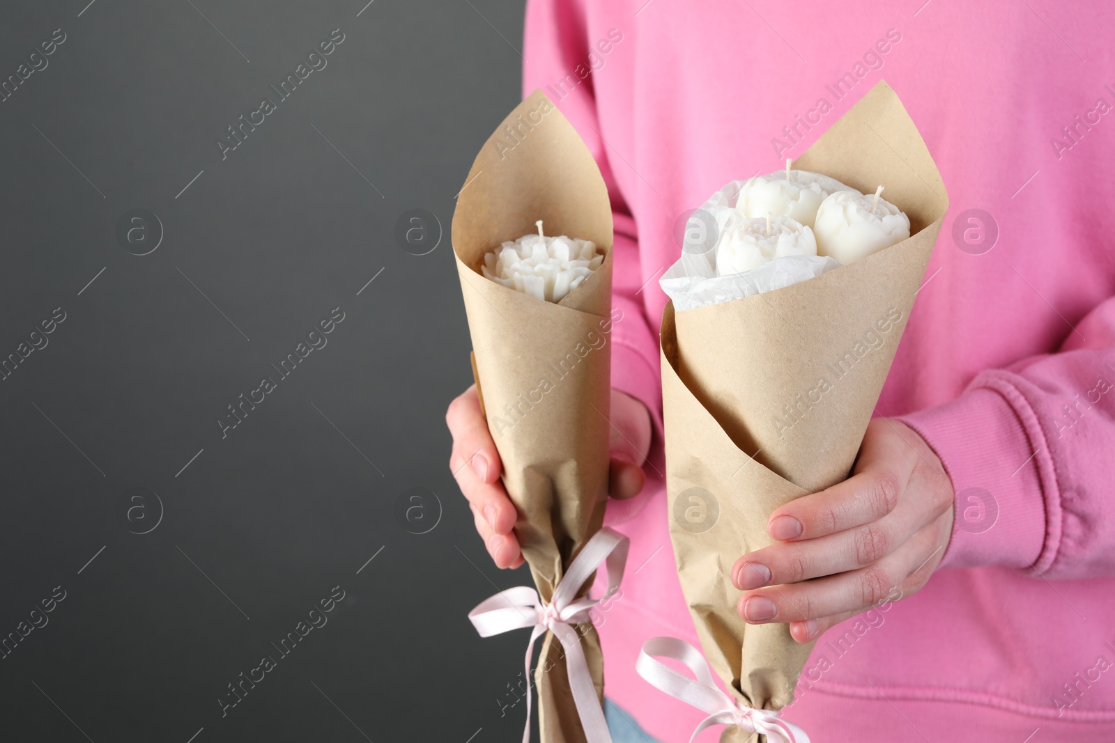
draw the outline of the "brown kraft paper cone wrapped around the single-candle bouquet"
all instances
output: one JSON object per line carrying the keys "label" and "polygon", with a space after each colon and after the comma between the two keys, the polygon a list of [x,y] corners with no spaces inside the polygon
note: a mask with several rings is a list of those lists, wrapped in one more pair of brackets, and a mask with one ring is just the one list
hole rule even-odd
{"label": "brown kraft paper cone wrapped around the single-candle bouquet", "polygon": [[[473,163],[453,215],[453,250],[474,373],[518,510],[515,536],[543,602],[600,530],[608,497],[612,213],[608,188],[572,125],[541,91],[520,104]],[[591,239],[601,266],[561,302],[481,274],[485,253],[536,231]],[[589,579],[578,596],[584,595]],[[576,626],[603,704],[600,638]],[[541,739],[581,743],[564,652],[546,633],[534,674]]]}

